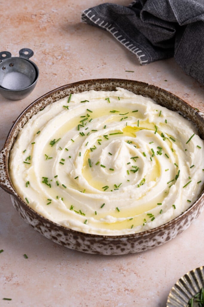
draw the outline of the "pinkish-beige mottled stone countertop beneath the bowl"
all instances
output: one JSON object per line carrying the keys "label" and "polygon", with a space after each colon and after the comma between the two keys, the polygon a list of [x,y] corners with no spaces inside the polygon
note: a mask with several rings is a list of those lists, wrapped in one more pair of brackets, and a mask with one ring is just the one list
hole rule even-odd
{"label": "pinkish-beige mottled stone countertop beneath the bowl", "polygon": [[[112,2],[128,5],[131,1]],[[139,80],[204,111],[202,85],[185,75],[173,58],[140,66],[136,56],[110,33],[81,23],[82,10],[104,0],[0,3],[0,51],[18,56],[21,48],[32,49],[31,60],[40,72],[34,91],[25,99],[11,101],[0,95],[0,148],[25,107],[54,88],[79,80]],[[0,189],[0,250],[4,250],[0,254],[0,306],[165,307],[177,279],[204,265],[203,218],[204,212],[175,239],[150,251],[89,255],[34,231],[13,208],[9,194]]]}

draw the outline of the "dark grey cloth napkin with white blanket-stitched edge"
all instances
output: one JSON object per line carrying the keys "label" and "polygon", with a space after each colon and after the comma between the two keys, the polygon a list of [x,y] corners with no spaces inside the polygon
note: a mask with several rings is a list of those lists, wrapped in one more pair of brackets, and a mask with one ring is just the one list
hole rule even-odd
{"label": "dark grey cloth napkin with white blanket-stitched edge", "polygon": [[[200,0],[202,1],[202,0]],[[82,12],[82,22],[109,31],[141,65],[174,56],[204,83],[204,6],[195,0],[135,0],[128,7],[104,3]]]}

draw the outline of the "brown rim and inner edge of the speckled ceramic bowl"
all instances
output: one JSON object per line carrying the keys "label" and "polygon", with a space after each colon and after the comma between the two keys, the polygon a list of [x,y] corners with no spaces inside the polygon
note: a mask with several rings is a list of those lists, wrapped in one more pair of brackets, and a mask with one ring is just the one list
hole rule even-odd
{"label": "brown rim and inner edge of the speckled ceramic bowl", "polygon": [[[3,188],[6,192],[8,192],[9,194],[12,194],[13,196],[15,196],[17,198],[17,200],[19,200],[21,202],[21,204],[24,205],[24,207],[26,207],[26,209],[28,211],[31,211],[32,213],[34,213],[37,217],[43,219],[44,221],[47,221],[49,223],[52,223],[53,225],[59,227],[60,229],[64,230],[64,231],[71,231],[74,234],[83,234],[83,235],[88,235],[90,237],[95,237],[95,238],[106,238],[106,239],[118,239],[118,238],[134,238],[134,237],[145,237],[147,235],[150,234],[154,234],[158,231],[162,231],[165,230],[165,228],[171,227],[171,225],[175,222],[177,222],[178,220],[182,220],[184,215],[187,215],[188,212],[191,212],[194,210],[194,208],[196,207],[197,203],[202,199],[202,197],[204,196],[204,190],[202,191],[202,193],[200,194],[200,196],[198,197],[198,199],[191,204],[191,206],[186,209],[182,214],[180,214],[179,216],[177,216],[176,218],[174,218],[173,220],[158,226],[156,228],[147,230],[147,231],[142,231],[142,232],[138,232],[135,234],[129,234],[129,235],[95,235],[95,234],[89,234],[89,233],[83,233],[80,231],[76,231],[76,230],[72,230],[70,228],[66,228],[64,226],[61,226],[60,224],[57,224],[55,222],[52,222],[51,220],[46,219],[44,216],[40,215],[38,212],[34,211],[32,208],[30,208],[28,206],[28,204],[26,204],[21,198],[20,196],[17,194],[17,192],[15,191],[12,182],[10,180],[9,177],[9,170],[8,170],[8,162],[9,162],[9,153],[10,150],[13,146],[13,143],[17,137],[18,131],[19,131],[19,127],[17,129],[18,124],[21,122],[21,120],[25,119],[24,124],[28,121],[28,119],[30,119],[34,114],[36,114],[38,111],[40,111],[40,109],[42,109],[42,107],[40,108],[41,104],[43,103],[43,99],[52,99],[54,94],[58,94],[59,96],[56,99],[52,99],[52,101],[46,103],[46,105],[53,103],[61,98],[64,98],[66,96],[68,96],[72,91],[69,91],[69,93],[66,95],[63,95],[63,91],[65,91],[66,89],[69,90],[69,88],[71,87],[78,87],[78,92],[82,92],[85,91],[85,89],[80,91],[80,86],[89,86],[90,89],[94,89],[95,84],[100,83],[101,86],[101,90],[105,90],[104,87],[107,86],[111,86],[111,89],[109,89],[109,91],[111,90],[115,90],[116,87],[122,87],[120,85],[120,83],[124,83],[126,84],[126,89],[132,91],[132,89],[130,89],[131,85],[137,85],[138,86],[138,95],[143,95],[145,97],[150,97],[152,99],[154,99],[156,102],[158,102],[160,105],[162,105],[162,99],[165,99],[165,96],[167,95],[169,98],[175,99],[177,100],[177,102],[181,103],[181,105],[183,105],[184,109],[187,108],[189,111],[193,111],[192,116],[187,116],[184,113],[182,113],[182,111],[178,108],[178,110],[175,110],[175,108],[171,108],[171,106],[169,106],[170,110],[173,111],[177,111],[179,112],[181,115],[183,115],[184,117],[190,119],[194,124],[195,124],[195,119],[198,120],[198,122],[200,123],[200,125],[203,125],[204,123],[204,113],[198,111],[197,109],[195,109],[194,107],[192,107],[191,105],[189,105],[187,102],[185,102],[183,99],[181,99],[180,97],[172,94],[169,91],[166,91],[160,87],[157,87],[155,85],[149,85],[147,83],[144,82],[140,82],[140,81],[135,81],[135,80],[127,80],[127,79],[90,79],[90,80],[82,80],[82,81],[78,81],[78,82],[74,82],[71,84],[66,84],[63,85],[61,87],[58,87],[54,90],[51,90],[49,92],[47,92],[46,94],[42,95],[41,97],[39,97],[38,99],[36,99],[34,102],[32,102],[30,105],[28,105],[28,107],[26,107],[24,109],[24,111],[21,112],[21,114],[18,116],[18,118],[16,119],[16,121],[13,123],[11,129],[9,130],[9,134],[6,138],[5,144],[0,152],[0,187]],[[109,83],[109,84],[108,84]],[[116,84],[115,84],[116,83]],[[124,85],[123,85],[124,87]],[[154,93],[151,93],[151,91]],[[62,92],[62,93],[61,93]],[[61,95],[60,95],[61,93]],[[160,94],[160,99],[158,99],[158,97],[156,97],[157,93]],[[40,104],[41,103],[41,104]],[[45,105],[45,106],[46,106]],[[35,112],[33,112],[33,114],[31,116],[27,116],[27,113],[29,111],[32,111],[32,108],[37,106],[37,108],[35,109]],[[44,107],[45,107],[44,106]],[[44,108],[43,107],[43,108]],[[200,113],[200,114],[198,114]],[[194,119],[194,120],[193,120]],[[24,124],[22,124],[20,127],[23,127]],[[199,125],[195,124],[199,130]],[[15,130],[17,129],[17,133],[15,135],[15,137],[13,138],[13,133],[15,132]],[[203,125],[203,131],[199,131],[200,137],[202,139],[204,139],[204,125]],[[13,138],[13,142],[10,145],[10,142],[12,141]],[[1,179],[2,178],[2,179]]]}

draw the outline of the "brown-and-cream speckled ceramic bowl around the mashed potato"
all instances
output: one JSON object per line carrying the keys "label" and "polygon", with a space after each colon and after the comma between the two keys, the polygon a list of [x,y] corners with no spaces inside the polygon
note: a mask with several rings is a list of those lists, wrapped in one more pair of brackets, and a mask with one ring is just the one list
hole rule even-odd
{"label": "brown-and-cream speckled ceramic bowl around the mashed potato", "polygon": [[179,97],[159,87],[147,83],[123,80],[123,79],[94,79],[85,80],[64,85],[31,103],[17,118],[13,124],[5,145],[0,153],[0,186],[11,194],[13,206],[20,216],[29,223],[35,230],[39,231],[46,238],[61,244],[65,247],[83,251],[90,254],[102,255],[123,255],[146,251],[157,247],[173,239],[180,232],[187,229],[191,222],[202,212],[204,205],[204,191],[194,204],[191,204],[184,213],[174,220],[157,228],[131,235],[105,236],[92,235],[74,231],[62,227],[50,220],[47,220],[39,213],[32,210],[15,191],[8,170],[9,152],[13,146],[18,131],[24,124],[43,107],[53,103],[70,93],[78,93],[87,90],[113,91],[116,87],[123,87],[138,95],[150,97],[161,106],[170,110],[180,112],[184,117],[190,119],[197,126],[200,137],[204,139],[204,114],[198,112]]}

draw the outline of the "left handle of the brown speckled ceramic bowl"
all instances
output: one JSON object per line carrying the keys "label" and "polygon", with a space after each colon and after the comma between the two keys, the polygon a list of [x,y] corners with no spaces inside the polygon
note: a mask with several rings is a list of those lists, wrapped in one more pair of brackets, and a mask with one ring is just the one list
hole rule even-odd
{"label": "left handle of the brown speckled ceramic bowl", "polygon": [[3,148],[0,152],[0,187],[9,194],[17,195],[8,178],[7,152],[7,148]]}

